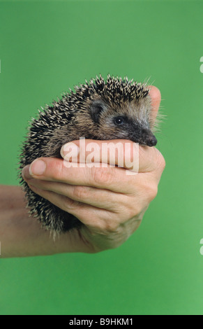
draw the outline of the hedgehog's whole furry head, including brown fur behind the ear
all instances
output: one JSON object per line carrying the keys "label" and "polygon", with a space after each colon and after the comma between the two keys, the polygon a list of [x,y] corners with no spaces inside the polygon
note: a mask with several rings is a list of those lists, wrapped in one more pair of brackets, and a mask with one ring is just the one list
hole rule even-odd
{"label": "hedgehog's whole furry head, including brown fur behind the ear", "polygon": [[107,97],[96,97],[88,102],[89,111],[78,113],[75,129],[87,132],[93,139],[130,139],[146,146],[156,146],[152,133],[151,99],[149,95],[141,99],[110,102]]}

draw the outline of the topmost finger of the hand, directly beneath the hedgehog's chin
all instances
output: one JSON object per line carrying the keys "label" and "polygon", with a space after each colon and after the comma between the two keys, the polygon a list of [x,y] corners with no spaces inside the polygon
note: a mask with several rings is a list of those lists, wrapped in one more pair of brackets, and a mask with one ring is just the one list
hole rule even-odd
{"label": "topmost finger of the hand, directly beneath the hedgehog's chin", "polygon": [[[89,165],[94,163],[96,167],[100,163],[103,168],[109,164],[137,173],[156,170],[157,158],[161,155],[156,148],[143,147],[124,139],[111,141],[80,139],[80,141],[65,144],[61,148],[61,156],[66,160],[64,165],[67,167],[73,167],[76,163],[79,167],[84,167],[84,164],[90,167]],[[69,160],[72,162],[68,164]]]}

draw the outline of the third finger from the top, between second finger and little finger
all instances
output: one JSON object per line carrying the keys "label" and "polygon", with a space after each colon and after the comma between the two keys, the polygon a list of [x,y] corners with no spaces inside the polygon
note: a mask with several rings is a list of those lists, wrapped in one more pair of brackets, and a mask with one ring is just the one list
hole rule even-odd
{"label": "third finger from the top, between second finger and little finger", "polygon": [[[61,195],[61,207],[63,207],[63,198],[68,197],[68,202],[73,200],[79,202],[76,204],[82,203],[97,209],[105,209],[118,216],[119,214],[124,214],[123,218],[132,218],[135,214],[140,214],[140,211],[148,207],[149,203],[156,197],[155,191],[151,187],[144,185],[140,186],[138,190],[135,188],[132,195],[123,195],[121,193],[113,193],[110,190],[101,190],[86,186],[70,186],[68,184],[40,181],[37,179],[32,179],[31,183],[29,182],[29,186],[31,189],[37,188],[40,191],[43,190]],[[60,198],[57,200],[60,200]],[[58,201],[59,206],[60,203]]]}

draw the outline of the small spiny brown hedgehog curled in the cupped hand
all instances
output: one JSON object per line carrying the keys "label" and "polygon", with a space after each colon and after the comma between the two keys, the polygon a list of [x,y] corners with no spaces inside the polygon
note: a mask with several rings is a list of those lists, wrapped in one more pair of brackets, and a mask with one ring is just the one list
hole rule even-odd
{"label": "small spiny brown hedgehog curled in the cupped hand", "polygon": [[128,139],[142,146],[156,146],[149,90],[146,83],[127,77],[108,75],[105,80],[100,75],[38,110],[22,143],[18,173],[30,216],[54,234],[81,228],[83,224],[75,216],[34,193],[22,178],[22,169],[36,158],[61,158],[61,147],[80,138]]}

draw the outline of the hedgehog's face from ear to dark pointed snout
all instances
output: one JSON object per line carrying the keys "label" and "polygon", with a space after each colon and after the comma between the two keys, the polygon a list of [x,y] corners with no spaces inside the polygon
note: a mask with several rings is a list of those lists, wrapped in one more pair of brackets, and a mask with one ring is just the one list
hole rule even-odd
{"label": "hedgehog's face from ear to dark pointed snout", "polygon": [[[140,106],[143,107],[142,111]],[[118,105],[96,99],[90,109],[94,123],[99,125],[97,138],[99,131],[100,139],[130,139],[141,145],[156,146],[156,137],[152,134],[147,120],[147,102],[121,102]]]}

